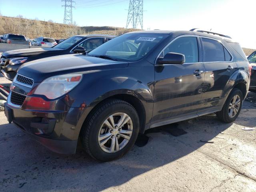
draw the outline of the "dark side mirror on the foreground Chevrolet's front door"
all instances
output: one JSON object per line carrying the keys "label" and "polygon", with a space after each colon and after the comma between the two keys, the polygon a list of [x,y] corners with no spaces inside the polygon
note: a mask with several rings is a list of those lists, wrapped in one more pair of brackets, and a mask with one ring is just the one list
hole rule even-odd
{"label": "dark side mirror on the foreground Chevrolet's front door", "polygon": [[158,58],[158,64],[184,64],[185,56],[180,53],[167,53],[164,57]]}

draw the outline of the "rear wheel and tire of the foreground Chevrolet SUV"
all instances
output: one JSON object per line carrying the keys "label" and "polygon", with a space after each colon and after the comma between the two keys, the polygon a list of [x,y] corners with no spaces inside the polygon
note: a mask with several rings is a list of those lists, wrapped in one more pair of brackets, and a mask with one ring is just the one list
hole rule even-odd
{"label": "rear wheel and tire of the foreground Chevrolet SUV", "polygon": [[[234,98],[235,96],[236,98]],[[235,103],[238,102],[238,97],[240,98],[239,107],[235,105]],[[234,99],[236,99],[235,103],[234,103]],[[234,106],[232,106],[232,103],[234,104]],[[224,103],[222,110],[216,113],[218,119],[220,119],[222,122],[225,122],[225,123],[233,122],[234,120],[236,120],[236,118],[238,117],[241,111],[242,103],[243,103],[242,92],[238,88],[234,88],[230,92],[226,102]],[[230,107],[232,108],[232,111]],[[234,109],[234,107],[236,109]],[[236,112],[236,114],[233,111]]]}

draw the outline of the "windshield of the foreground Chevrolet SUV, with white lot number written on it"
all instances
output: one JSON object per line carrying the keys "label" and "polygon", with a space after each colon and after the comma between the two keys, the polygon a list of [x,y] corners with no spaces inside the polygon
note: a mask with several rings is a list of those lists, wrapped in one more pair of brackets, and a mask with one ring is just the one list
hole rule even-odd
{"label": "windshield of the foreground Chevrolet SUV, with white lot number written on it", "polygon": [[119,61],[137,61],[167,36],[153,33],[124,34],[90,51],[88,56],[110,56]]}

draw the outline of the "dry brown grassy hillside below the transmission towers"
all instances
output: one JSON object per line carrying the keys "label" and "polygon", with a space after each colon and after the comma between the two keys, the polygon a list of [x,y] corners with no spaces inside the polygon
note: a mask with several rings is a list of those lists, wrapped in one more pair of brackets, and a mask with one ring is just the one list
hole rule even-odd
{"label": "dry brown grassy hillside below the transmission towers", "polygon": [[120,35],[136,29],[118,27],[94,27],[94,26],[72,26],[40,20],[29,20],[24,18],[0,16],[0,34],[15,33],[23,34],[26,38],[38,36],[51,37],[55,39],[68,38],[77,34],[110,34]]}

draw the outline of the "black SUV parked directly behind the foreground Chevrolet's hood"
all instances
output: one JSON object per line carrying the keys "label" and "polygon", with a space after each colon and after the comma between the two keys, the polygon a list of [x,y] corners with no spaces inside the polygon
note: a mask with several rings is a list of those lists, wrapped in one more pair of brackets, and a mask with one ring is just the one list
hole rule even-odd
{"label": "black SUV parked directly behind the foreground Chevrolet's hood", "polygon": [[1,73],[8,80],[13,80],[18,68],[29,61],[64,54],[84,53],[93,50],[116,36],[112,35],[77,35],[70,37],[52,48],[30,48],[6,51],[0,58]]}

